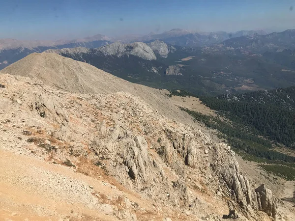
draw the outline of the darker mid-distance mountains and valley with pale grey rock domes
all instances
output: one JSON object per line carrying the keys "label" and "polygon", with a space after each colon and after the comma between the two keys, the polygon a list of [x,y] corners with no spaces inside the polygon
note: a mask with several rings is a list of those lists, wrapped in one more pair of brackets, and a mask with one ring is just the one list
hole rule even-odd
{"label": "darker mid-distance mountains and valley with pale grey rock domes", "polygon": [[[192,48],[155,40],[48,52],[87,62],[133,83],[183,89],[198,95],[287,87],[295,83],[293,54],[284,50],[254,54],[222,45]],[[289,59],[282,59],[286,56]]]}

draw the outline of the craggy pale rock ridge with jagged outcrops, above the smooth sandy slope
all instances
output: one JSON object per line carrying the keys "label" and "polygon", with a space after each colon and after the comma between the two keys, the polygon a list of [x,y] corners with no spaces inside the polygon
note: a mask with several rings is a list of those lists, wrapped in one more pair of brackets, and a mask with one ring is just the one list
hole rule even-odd
{"label": "craggy pale rock ridge with jagged outcrops, above the smooth sandy slope", "polygon": [[[117,188],[149,200],[152,214],[161,219],[170,214],[172,220],[220,220],[228,203],[242,220],[277,215],[279,201],[264,186],[251,188],[229,146],[159,115],[138,97],[72,94],[10,75],[1,75],[0,81],[4,149],[85,174],[103,171],[104,177],[115,178]],[[94,169],[89,173],[89,168]],[[89,200],[84,204],[105,206]],[[142,216],[149,214],[137,206],[119,207],[100,211],[123,220],[145,220]]]}

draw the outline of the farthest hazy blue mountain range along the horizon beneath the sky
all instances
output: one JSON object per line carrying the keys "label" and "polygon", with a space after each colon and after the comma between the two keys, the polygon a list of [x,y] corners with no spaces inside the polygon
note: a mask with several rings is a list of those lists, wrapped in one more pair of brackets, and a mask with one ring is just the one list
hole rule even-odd
{"label": "farthest hazy blue mountain range along the horizon beneath the sky", "polygon": [[226,39],[242,36],[253,35],[255,33],[265,34],[264,31],[238,31],[235,33],[226,32],[192,32],[184,29],[172,29],[162,34],[149,33],[148,35],[126,35],[117,38],[110,38],[105,35],[97,34],[90,37],[73,40],[58,41],[19,41],[15,39],[0,39],[0,69],[7,65],[29,55],[30,53],[41,53],[48,49],[62,48],[98,48],[111,42],[121,41],[124,43],[148,42],[152,40],[164,40],[169,44],[180,46],[204,46],[222,42]]}

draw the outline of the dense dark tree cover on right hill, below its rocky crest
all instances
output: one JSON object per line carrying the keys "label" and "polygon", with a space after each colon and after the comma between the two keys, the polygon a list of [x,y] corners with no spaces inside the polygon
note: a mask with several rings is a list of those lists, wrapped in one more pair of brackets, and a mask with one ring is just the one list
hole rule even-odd
{"label": "dense dark tree cover on right hill, below its rocky crest", "polygon": [[200,97],[212,110],[219,111],[232,122],[254,128],[253,134],[295,148],[295,111],[272,104],[221,100]]}

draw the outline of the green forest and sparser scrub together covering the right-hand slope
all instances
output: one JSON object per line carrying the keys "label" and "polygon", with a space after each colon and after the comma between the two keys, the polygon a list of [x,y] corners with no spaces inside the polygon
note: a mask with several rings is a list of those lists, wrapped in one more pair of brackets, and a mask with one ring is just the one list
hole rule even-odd
{"label": "green forest and sparser scrub together covering the right-hand slope", "polygon": [[[174,90],[168,96],[193,96]],[[245,159],[272,166],[263,166],[286,179],[295,178],[295,157],[277,152],[273,146],[295,148],[294,87],[256,91],[218,97],[201,96],[200,100],[218,116],[208,116],[189,109],[196,121],[218,131],[236,152]],[[284,167],[280,167],[284,166]],[[284,173],[278,173],[281,168]]]}

